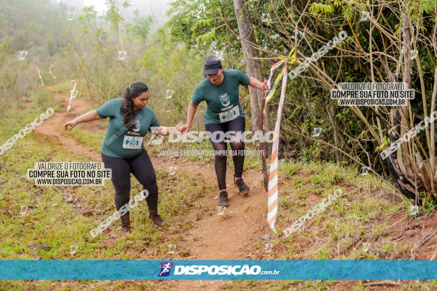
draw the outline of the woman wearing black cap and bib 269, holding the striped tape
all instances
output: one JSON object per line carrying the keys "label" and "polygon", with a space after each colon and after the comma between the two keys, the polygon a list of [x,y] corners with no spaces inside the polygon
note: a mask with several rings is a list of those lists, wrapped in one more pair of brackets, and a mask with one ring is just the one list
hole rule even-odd
{"label": "woman wearing black cap and bib 269, holding the striped tape", "polygon": [[[210,56],[204,61],[204,78],[194,90],[190,105],[188,106],[187,123],[177,127],[180,131],[188,131],[191,127],[196,109],[202,101],[207,103],[207,110],[204,114],[205,130],[213,133],[224,133],[226,131],[244,132],[246,120],[241,109],[238,98],[238,86],[252,86],[263,91],[268,90],[267,80],[261,83],[256,78],[249,77],[237,69],[223,69],[220,59]],[[234,135],[235,136],[235,135]],[[210,138],[215,151],[227,150],[225,141],[214,142],[216,138]],[[241,194],[249,194],[249,187],[244,183],[243,164],[244,142],[237,138],[234,142],[229,142],[232,151],[237,155],[232,155],[234,162],[234,183]],[[226,155],[216,155],[214,157],[214,168],[216,170],[219,198],[218,206],[228,206],[226,192]]]}

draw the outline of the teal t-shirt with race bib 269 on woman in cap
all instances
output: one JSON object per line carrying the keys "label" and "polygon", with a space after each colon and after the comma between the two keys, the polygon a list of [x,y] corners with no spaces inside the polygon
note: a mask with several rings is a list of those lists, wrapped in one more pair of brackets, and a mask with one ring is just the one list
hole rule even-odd
{"label": "teal t-shirt with race bib 269 on woman in cap", "polygon": [[206,101],[207,110],[204,124],[223,123],[244,116],[238,98],[238,86],[249,84],[249,76],[237,69],[223,70],[223,81],[214,85],[208,78],[203,79],[194,90],[191,102],[198,105]]}

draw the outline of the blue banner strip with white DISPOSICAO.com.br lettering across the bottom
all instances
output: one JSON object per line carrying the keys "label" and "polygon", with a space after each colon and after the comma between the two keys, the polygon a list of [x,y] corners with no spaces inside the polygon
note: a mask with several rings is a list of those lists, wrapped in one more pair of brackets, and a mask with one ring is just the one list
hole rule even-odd
{"label": "blue banner strip with white DISPOSICAO.com.br lettering across the bottom", "polygon": [[0,260],[0,280],[436,280],[425,260]]}

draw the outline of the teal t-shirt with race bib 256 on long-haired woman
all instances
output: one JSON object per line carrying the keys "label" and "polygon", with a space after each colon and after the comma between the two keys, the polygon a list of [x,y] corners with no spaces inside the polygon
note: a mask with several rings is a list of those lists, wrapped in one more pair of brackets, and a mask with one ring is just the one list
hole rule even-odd
{"label": "teal t-shirt with race bib 256 on long-haired woman", "polygon": [[159,126],[159,122],[153,110],[146,106],[134,110],[133,126],[128,130],[120,114],[122,101],[121,98],[109,100],[96,110],[100,117],[110,117],[101,153],[108,157],[132,159],[144,149],[143,137],[147,131],[151,126]]}

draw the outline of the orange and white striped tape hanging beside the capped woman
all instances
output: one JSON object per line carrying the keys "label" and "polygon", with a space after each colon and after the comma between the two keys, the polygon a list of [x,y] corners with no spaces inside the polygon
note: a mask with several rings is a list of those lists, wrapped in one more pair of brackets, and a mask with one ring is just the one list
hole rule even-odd
{"label": "orange and white striped tape hanging beside the capped woman", "polygon": [[[267,82],[270,90],[270,84],[273,77],[273,71],[285,61],[278,61],[270,69],[270,77]],[[278,151],[279,151],[279,131],[281,128],[282,109],[284,107],[285,92],[287,87],[287,63],[283,69],[281,98],[279,100],[278,115],[275,124],[275,141],[272,146],[272,157],[270,161],[269,191],[267,200],[267,222],[270,228],[276,233],[275,223],[278,214]]]}

